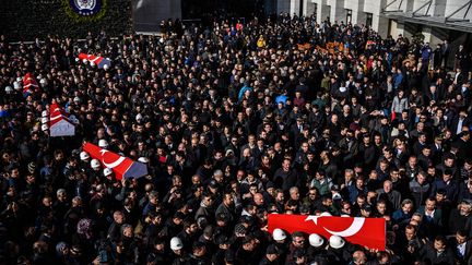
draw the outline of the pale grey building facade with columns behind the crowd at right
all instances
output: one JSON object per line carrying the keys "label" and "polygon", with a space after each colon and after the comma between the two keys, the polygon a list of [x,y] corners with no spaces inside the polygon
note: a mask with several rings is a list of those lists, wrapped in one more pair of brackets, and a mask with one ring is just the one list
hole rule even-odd
{"label": "pale grey building facade with columns behind the crowd at right", "polygon": [[276,0],[278,13],[364,24],[382,37],[421,32],[432,45],[444,39],[471,44],[471,7],[472,0]]}

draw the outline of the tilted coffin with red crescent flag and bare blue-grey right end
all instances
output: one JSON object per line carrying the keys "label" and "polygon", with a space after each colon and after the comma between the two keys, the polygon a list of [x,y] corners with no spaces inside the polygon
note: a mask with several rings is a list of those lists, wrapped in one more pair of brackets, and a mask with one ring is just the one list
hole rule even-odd
{"label": "tilted coffin with red crescent flag and bare blue-grey right end", "polygon": [[128,157],[120,156],[107,149],[85,143],[83,149],[91,155],[92,158],[98,159],[106,168],[110,168],[117,180],[141,178],[148,174],[146,165],[133,161]]}

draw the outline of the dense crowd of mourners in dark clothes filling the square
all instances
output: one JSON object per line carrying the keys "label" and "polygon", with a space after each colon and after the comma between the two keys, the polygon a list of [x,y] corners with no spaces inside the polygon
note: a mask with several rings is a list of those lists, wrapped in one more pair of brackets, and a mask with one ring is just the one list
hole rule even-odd
{"label": "dense crowd of mourners in dark clothes filling the square", "polygon": [[[162,28],[0,39],[1,264],[472,262],[462,46],[286,14]],[[48,136],[52,100],[75,136]],[[84,142],[149,174],[117,181]],[[272,213],[385,218],[387,248],[269,232]]]}

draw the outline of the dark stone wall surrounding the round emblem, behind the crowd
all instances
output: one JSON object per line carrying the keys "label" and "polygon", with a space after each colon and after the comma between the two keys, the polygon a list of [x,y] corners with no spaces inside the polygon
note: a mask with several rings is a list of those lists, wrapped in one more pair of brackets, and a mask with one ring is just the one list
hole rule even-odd
{"label": "dark stone wall surrounding the round emblem, behind the crowd", "polygon": [[132,32],[131,0],[106,0],[106,12],[97,21],[73,20],[66,13],[68,0],[2,1],[0,34],[11,41],[34,40],[48,34],[83,38],[87,32],[105,29],[108,36]]}

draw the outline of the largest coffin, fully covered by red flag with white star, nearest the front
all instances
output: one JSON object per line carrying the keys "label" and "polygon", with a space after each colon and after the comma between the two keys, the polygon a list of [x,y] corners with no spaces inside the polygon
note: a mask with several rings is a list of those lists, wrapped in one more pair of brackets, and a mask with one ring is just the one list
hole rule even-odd
{"label": "largest coffin, fully covered by red flag with white star, nearest the front", "polygon": [[340,236],[346,241],[384,251],[386,221],[384,218],[337,217],[314,215],[269,215],[269,231],[275,228],[288,232],[318,233],[329,239]]}

